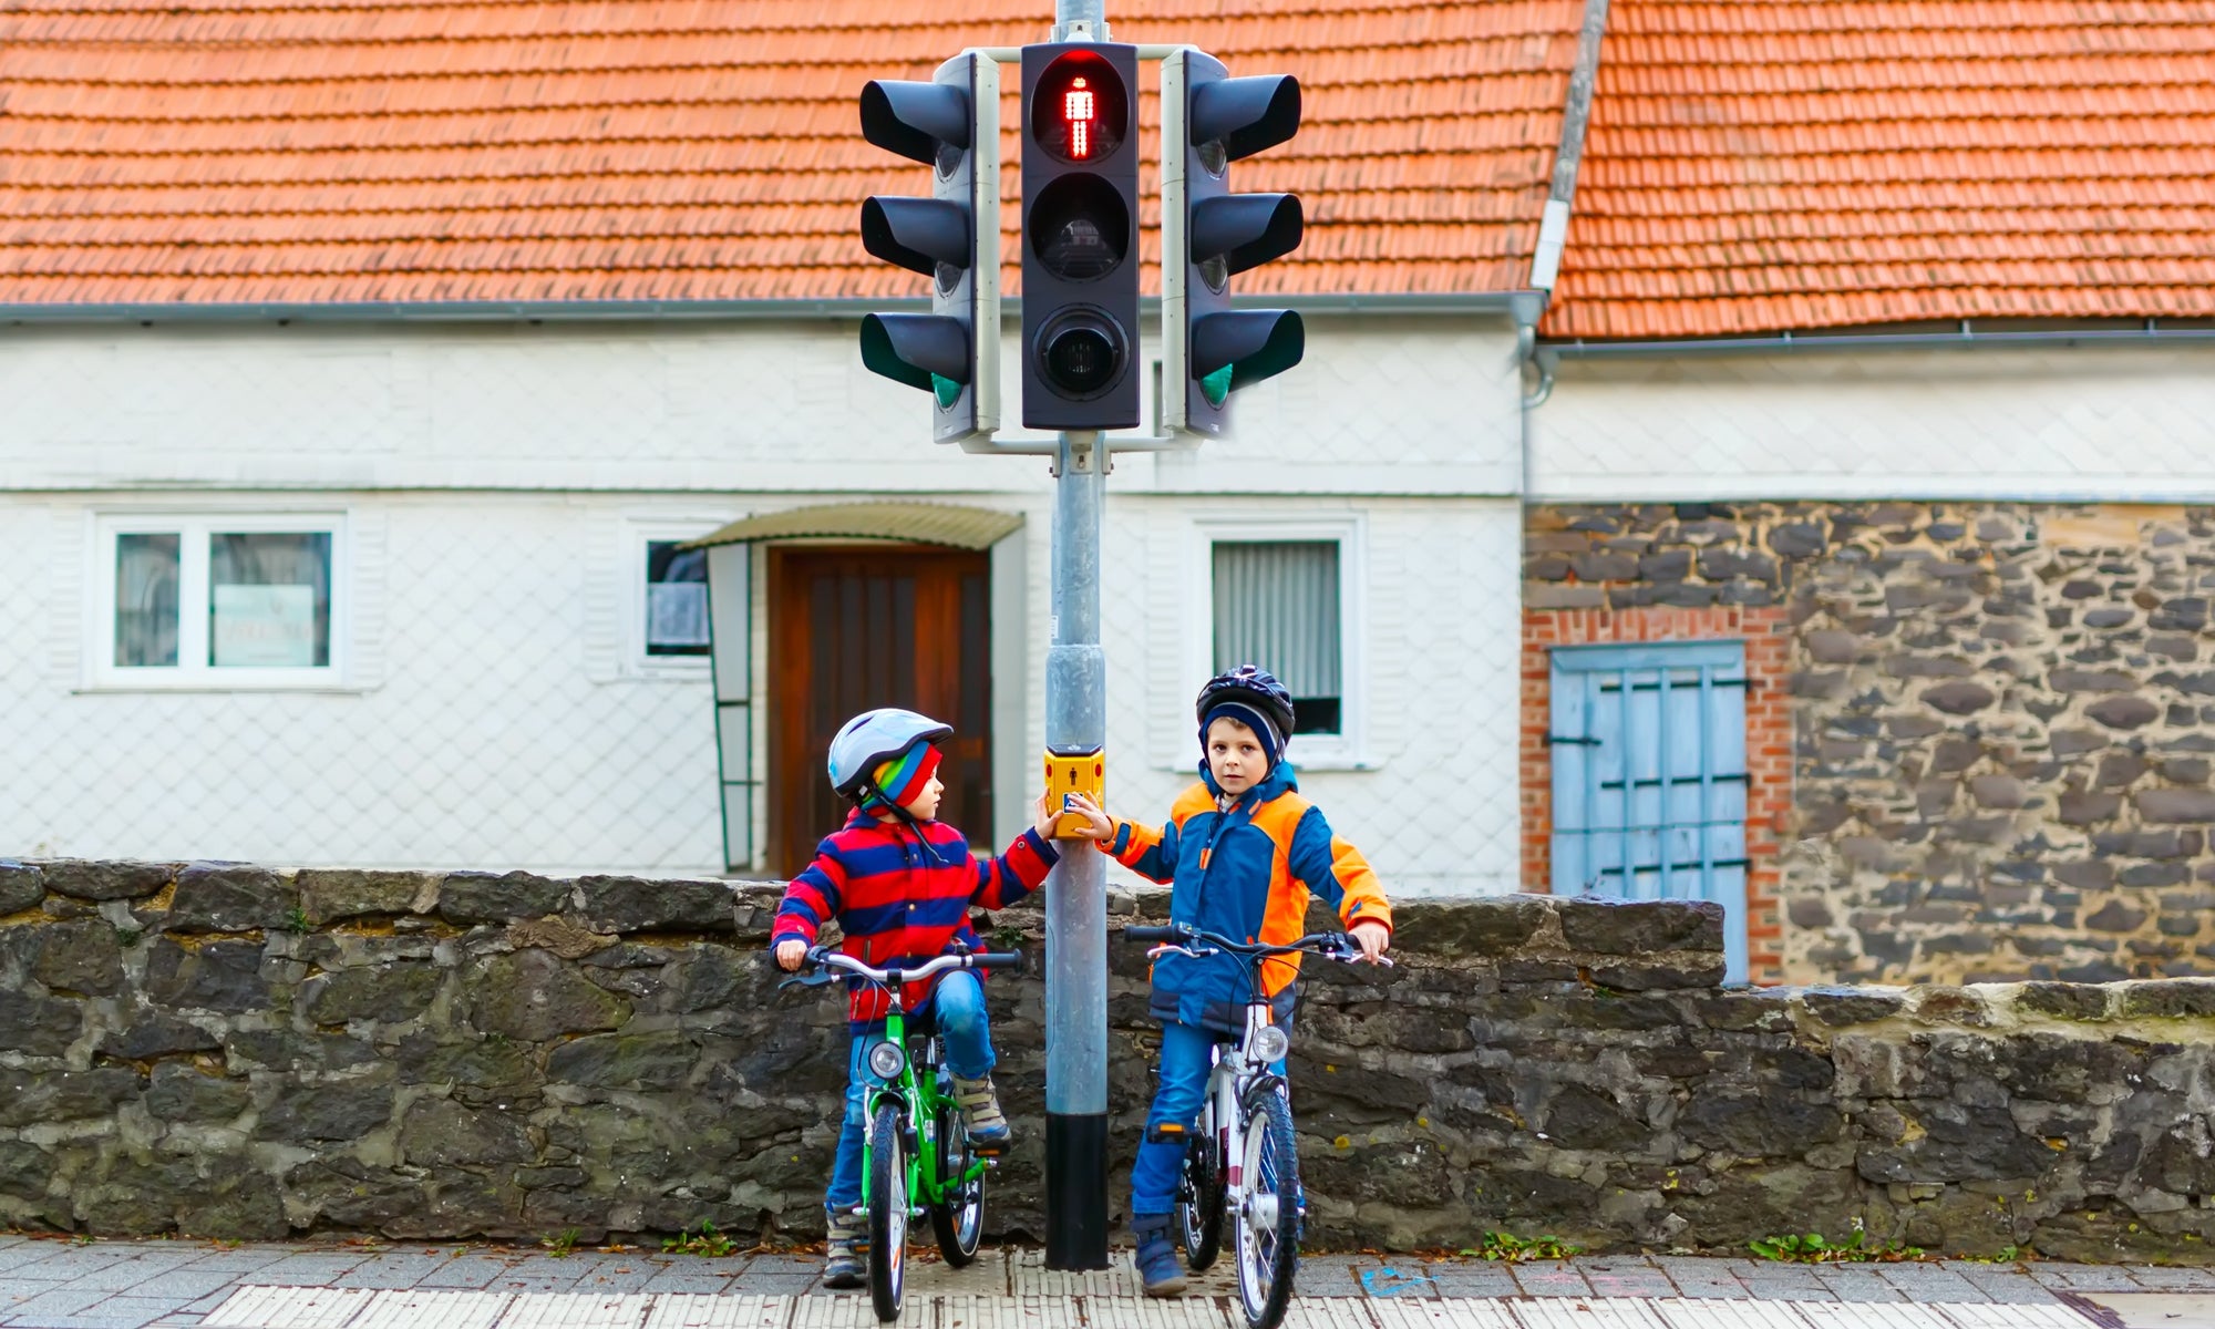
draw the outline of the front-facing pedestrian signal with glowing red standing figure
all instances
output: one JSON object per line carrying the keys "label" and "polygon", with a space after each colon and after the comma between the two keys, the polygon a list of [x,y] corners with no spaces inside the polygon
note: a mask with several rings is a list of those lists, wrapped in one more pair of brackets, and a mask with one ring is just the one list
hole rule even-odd
{"label": "front-facing pedestrian signal with glowing red standing figure", "polygon": [[1023,47],[1023,425],[1139,423],[1139,49]]}

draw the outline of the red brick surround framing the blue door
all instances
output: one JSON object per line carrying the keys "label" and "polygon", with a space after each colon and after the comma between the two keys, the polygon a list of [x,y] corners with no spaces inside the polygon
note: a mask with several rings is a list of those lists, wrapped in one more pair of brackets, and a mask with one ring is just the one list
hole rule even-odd
{"label": "red brick surround framing the blue door", "polygon": [[1553,671],[1546,651],[1601,642],[1745,640],[1745,970],[1783,979],[1779,846],[1792,817],[1792,707],[1785,611],[1774,605],[1706,609],[1524,611],[1522,647],[1522,862],[1524,890],[1553,884]]}

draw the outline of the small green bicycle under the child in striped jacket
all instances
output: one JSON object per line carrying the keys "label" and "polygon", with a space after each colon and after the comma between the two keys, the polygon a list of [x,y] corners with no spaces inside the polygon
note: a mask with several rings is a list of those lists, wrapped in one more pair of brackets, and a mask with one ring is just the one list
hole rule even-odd
{"label": "small green bicycle under the child in striped jacket", "polygon": [[882,988],[884,1041],[868,1050],[882,1085],[868,1092],[862,1136],[862,1212],[868,1216],[868,1298],[879,1320],[897,1320],[906,1287],[908,1220],[930,1214],[939,1254],[955,1269],[977,1258],[983,1236],[983,1174],[995,1158],[970,1145],[939,1061],[937,1037],[908,1037],[902,988],[950,970],[1021,970],[1017,952],[941,955],[917,968],[870,968],[851,955],[815,946],[813,972],[780,988],[822,986],[842,972]]}

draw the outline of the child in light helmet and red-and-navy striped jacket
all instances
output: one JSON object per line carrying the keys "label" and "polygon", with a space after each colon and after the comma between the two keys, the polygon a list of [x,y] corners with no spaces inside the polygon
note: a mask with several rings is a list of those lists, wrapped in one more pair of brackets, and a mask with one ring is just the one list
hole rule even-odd
{"label": "child in light helmet and red-and-navy striped jacket", "polygon": [[[855,715],[831,740],[831,789],[853,800],[846,826],[815,846],[777,906],[769,946],[777,964],[797,970],[817,930],[837,919],[839,950],[875,966],[919,966],[957,944],[983,950],[970,928],[970,906],[1006,908],[1045,882],[1061,857],[1052,842],[1059,815],[1039,795],[1037,820],[1008,853],[970,855],[968,839],[939,822],[939,749],[952,729],[915,711],[879,709]],[[992,1092],[992,1032],[983,1012],[983,975],[955,970],[906,983],[902,997],[915,1019],[935,1019],[952,1076],[961,1123],[981,1152],[1008,1143],[1008,1119]],[[826,1287],[862,1287],[862,1247],[868,1229],[862,1205],[862,1105],[873,1083],[868,1045],[884,1028],[888,999],[877,988],[848,981],[846,1123],[824,1196],[831,1229],[824,1260]]]}

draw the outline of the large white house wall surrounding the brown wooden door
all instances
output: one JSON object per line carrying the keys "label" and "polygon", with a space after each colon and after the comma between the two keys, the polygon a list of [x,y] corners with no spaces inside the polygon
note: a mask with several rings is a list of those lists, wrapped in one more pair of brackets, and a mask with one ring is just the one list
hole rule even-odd
{"label": "large white house wall surrounding the brown wooden door", "polygon": [[[1198,523],[1358,521],[1364,742],[1302,786],[1395,890],[1511,888],[1513,328],[1309,328],[1300,370],[1240,394],[1240,439],[1116,459],[1114,797],[1158,820],[1189,780]],[[13,330],[0,401],[0,855],[720,868],[707,676],[627,658],[640,523],[1019,509],[1030,660],[1048,642],[1045,463],[930,445],[844,323]],[[89,689],[93,514],[137,507],[343,509],[343,687]],[[1037,669],[1019,713],[1037,753]]]}

